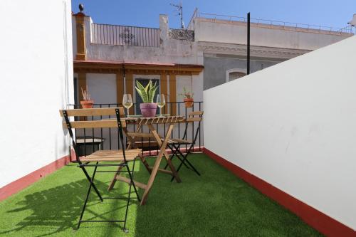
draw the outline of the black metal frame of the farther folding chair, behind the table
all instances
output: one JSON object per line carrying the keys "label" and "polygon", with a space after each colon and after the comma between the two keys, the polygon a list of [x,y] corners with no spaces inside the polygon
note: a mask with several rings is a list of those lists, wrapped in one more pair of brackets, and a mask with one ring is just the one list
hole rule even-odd
{"label": "black metal frame of the farther folding chair, behind the table", "polygon": [[[199,117],[201,118],[202,115],[199,115]],[[188,130],[189,123],[192,123],[192,127],[193,127],[194,122],[185,122],[185,130],[184,130],[184,135],[183,135],[182,139],[187,139],[187,130]],[[192,168],[194,170],[194,172],[200,176],[200,173],[197,171],[197,169],[187,159],[188,155],[192,153],[192,149],[194,149],[194,144],[197,141],[197,138],[198,138],[198,135],[199,135],[200,125],[201,125],[201,120],[199,121],[197,130],[196,130],[195,135],[194,135],[194,139],[193,139],[193,141],[191,143],[187,143],[187,142],[179,143],[179,142],[177,142],[177,143],[168,143],[167,144],[167,146],[169,147],[169,149],[171,149],[171,152],[172,152],[170,159],[172,160],[173,157],[177,157],[181,162],[179,164],[179,167],[177,168],[177,172],[179,172],[179,169],[184,164],[184,166],[187,167],[187,169]],[[185,154],[183,154],[181,152],[181,150],[180,150],[180,147],[182,145],[187,145],[187,144],[190,144],[189,149],[186,149]],[[181,157],[179,157],[179,155]],[[186,164],[186,162],[187,162],[187,164]],[[164,169],[167,169],[167,167],[168,167],[168,164],[166,164]],[[171,179],[171,181],[173,181],[173,178]]]}

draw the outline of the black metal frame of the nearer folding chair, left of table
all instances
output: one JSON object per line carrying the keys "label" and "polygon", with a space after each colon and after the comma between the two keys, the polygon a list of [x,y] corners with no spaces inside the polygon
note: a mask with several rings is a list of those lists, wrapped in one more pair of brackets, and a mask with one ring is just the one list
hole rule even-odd
{"label": "black metal frame of the nearer folding chair, left of table", "polygon": [[[68,127],[68,132],[69,132],[69,135],[70,135],[70,138],[72,140],[72,145],[73,145],[73,149],[74,149],[74,152],[75,152],[75,157],[76,157],[76,161],[78,162],[78,167],[80,169],[83,170],[84,174],[85,174],[85,177],[88,179],[89,181],[89,187],[88,187],[88,192],[86,194],[86,197],[85,197],[85,201],[84,201],[84,204],[83,204],[83,209],[80,213],[80,218],[79,218],[79,221],[78,221],[78,225],[77,225],[77,229],[80,227],[80,223],[83,223],[83,222],[115,222],[115,223],[124,223],[124,226],[122,228],[122,230],[127,233],[128,230],[126,228],[126,222],[127,222],[127,212],[128,212],[128,207],[130,205],[130,199],[138,199],[138,201],[140,201],[140,197],[137,193],[137,188],[135,186],[135,182],[133,181],[133,172],[135,170],[135,160],[133,161],[133,165],[132,165],[132,170],[130,170],[130,167],[128,166],[128,162],[126,160],[126,156],[125,156],[125,147],[124,147],[124,137],[123,137],[123,133],[122,133],[122,124],[121,124],[121,120],[120,120],[120,110],[119,108],[116,108],[115,109],[115,114],[116,114],[116,120],[117,120],[117,130],[118,130],[118,135],[119,135],[119,141],[118,141],[118,145],[119,145],[119,149],[120,149],[120,144],[121,144],[121,147],[122,147],[122,155],[123,155],[123,159],[124,159],[124,162],[120,162],[118,164],[99,164],[99,162],[96,162],[96,164],[90,164],[90,162],[81,162],[80,159],[79,159],[79,152],[78,152],[78,147],[77,147],[77,144],[75,144],[75,139],[74,139],[74,136],[73,136],[73,131],[72,131],[72,126],[70,125],[70,120],[68,118],[68,113],[67,113],[67,110],[63,110],[63,117],[66,121],[66,125]],[[93,175],[92,177],[89,176],[88,174],[88,171],[85,169],[85,167],[95,167],[94,168],[94,172],[93,172]],[[98,167],[126,167],[126,171],[121,171],[121,172],[127,172],[127,174],[129,174],[130,176],[130,187],[129,187],[129,192],[128,192],[128,197],[108,197],[108,198],[103,198],[100,194],[100,192],[98,191],[97,187],[95,186],[94,184],[94,178],[95,178],[95,174],[96,173],[100,173],[100,172],[112,172],[112,173],[116,173],[117,171],[97,171]],[[135,194],[137,196],[137,198],[132,198],[131,197],[131,187],[133,186],[134,190],[135,190]],[[100,201],[104,201],[105,199],[127,199],[127,204],[126,204],[126,209],[125,209],[125,219],[124,220],[83,220],[83,214],[84,214],[84,211],[85,211],[85,207],[87,206],[87,202],[88,202],[88,198],[89,198],[89,194],[90,194],[90,191],[91,189],[94,189],[95,193],[98,195]]]}

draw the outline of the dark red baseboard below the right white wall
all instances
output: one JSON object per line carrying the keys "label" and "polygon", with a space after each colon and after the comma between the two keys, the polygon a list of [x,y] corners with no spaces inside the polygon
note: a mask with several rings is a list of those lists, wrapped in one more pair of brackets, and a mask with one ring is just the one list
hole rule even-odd
{"label": "dark red baseboard below the right white wall", "polygon": [[226,159],[220,157],[218,154],[211,152],[209,149],[204,148],[204,153],[211,157],[211,159],[214,159],[217,163],[221,164],[221,166],[229,169],[229,171],[234,173],[237,177],[243,179],[248,184],[258,189],[258,191],[261,191],[261,193],[265,194],[274,201],[277,201],[279,204],[286,207],[286,209],[292,211],[294,214],[303,219],[303,221],[308,223],[308,225],[320,231],[320,233],[325,234],[325,236],[356,236],[356,231],[352,230],[352,228],[347,227],[330,216],[323,214],[323,212],[314,209],[312,206],[303,203],[303,201],[295,199],[293,196],[281,191],[281,189],[268,184],[266,181],[263,181],[263,179],[260,179],[241,167],[232,164]]}

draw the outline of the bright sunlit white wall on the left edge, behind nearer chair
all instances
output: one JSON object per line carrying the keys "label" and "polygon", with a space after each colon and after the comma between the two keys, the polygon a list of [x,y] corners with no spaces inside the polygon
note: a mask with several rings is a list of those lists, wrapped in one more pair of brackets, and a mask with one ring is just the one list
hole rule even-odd
{"label": "bright sunlit white wall on the left edge, behind nearer chair", "polygon": [[58,110],[73,102],[70,12],[70,0],[0,1],[0,187],[68,155]]}

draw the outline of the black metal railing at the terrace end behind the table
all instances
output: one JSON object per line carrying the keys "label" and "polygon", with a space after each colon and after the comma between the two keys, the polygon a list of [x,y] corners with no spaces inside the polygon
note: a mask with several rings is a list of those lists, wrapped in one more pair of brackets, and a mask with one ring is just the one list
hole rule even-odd
{"label": "black metal railing at the terrace end behind the table", "polygon": [[[130,115],[136,115],[136,107],[139,105],[133,105],[133,113],[130,112]],[[80,108],[81,105],[69,105],[69,108]],[[93,107],[122,107],[122,104],[94,104]],[[157,112],[159,109],[157,108]],[[189,112],[203,110],[203,102],[194,102],[193,107],[187,108],[184,105],[184,102],[166,102],[164,108],[162,108],[162,114],[170,115],[182,115],[187,118]],[[130,110],[132,111],[132,109]],[[125,110],[125,116],[127,115],[127,110]],[[110,118],[110,116],[91,116],[91,117],[75,117],[75,120],[103,120],[105,118]],[[113,117],[112,117],[113,118]],[[174,126],[172,131],[172,138],[182,138],[185,130],[185,123],[178,123]],[[187,140],[194,140],[194,135],[197,130],[198,122],[193,122],[189,124],[187,130]],[[135,131],[137,125],[127,125],[127,130]],[[156,125],[156,130],[159,135],[163,136],[166,134],[168,126],[165,124]],[[141,127],[141,132],[148,132],[147,127]],[[204,146],[204,130],[203,124],[199,129],[199,134],[197,141],[194,147],[194,151],[201,152],[202,147]],[[159,152],[156,142],[151,139],[140,138],[136,141],[136,147],[142,148],[142,154],[144,156],[152,156]],[[120,144],[117,142],[117,130],[115,128],[98,128],[98,129],[75,129],[75,143],[78,145],[80,150],[80,156],[88,155],[95,152],[98,149],[119,149]],[[127,144],[127,138],[125,138],[125,144]],[[184,147],[182,147],[184,149]],[[187,149],[187,146],[185,147]]]}

